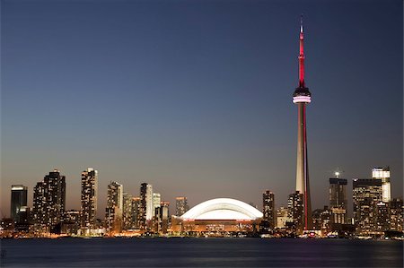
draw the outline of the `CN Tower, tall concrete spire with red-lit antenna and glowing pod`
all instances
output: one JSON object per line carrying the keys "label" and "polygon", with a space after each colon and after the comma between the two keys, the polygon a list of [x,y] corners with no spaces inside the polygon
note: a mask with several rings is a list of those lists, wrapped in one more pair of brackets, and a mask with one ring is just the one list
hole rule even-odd
{"label": "CN Tower, tall concrete spire with red-lit antenna and glowing pod", "polygon": [[306,104],[312,101],[312,94],[304,83],[303,18],[300,21],[299,86],[294,91],[297,105],[297,161],[296,191],[303,194],[303,229],[312,229],[312,202],[310,199],[309,164],[307,158]]}

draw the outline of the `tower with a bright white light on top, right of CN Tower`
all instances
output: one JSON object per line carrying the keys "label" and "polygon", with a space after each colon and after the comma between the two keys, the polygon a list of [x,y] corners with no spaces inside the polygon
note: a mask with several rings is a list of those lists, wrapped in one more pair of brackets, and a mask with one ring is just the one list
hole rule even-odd
{"label": "tower with a bright white light on top, right of CN Tower", "polygon": [[332,224],[347,224],[347,179],[329,178],[329,209]]}

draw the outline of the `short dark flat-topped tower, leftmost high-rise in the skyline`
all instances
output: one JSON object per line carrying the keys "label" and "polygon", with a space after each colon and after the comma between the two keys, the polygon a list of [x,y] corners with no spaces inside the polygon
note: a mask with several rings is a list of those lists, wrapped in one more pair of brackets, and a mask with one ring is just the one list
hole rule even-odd
{"label": "short dark flat-topped tower, leftmost high-rise in the skyline", "polygon": [[24,221],[22,218],[26,218],[22,217],[21,212],[25,212],[27,209],[27,193],[27,186],[12,186],[10,217],[14,223],[22,223]]}

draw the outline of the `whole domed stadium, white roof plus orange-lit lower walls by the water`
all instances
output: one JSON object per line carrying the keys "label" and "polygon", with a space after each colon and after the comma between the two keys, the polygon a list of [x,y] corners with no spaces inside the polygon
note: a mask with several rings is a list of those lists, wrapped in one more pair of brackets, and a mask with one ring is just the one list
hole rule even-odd
{"label": "whole domed stadium, white roof plus orange-lit lower walls by the water", "polygon": [[216,198],[199,203],[182,216],[171,218],[171,230],[205,234],[253,232],[258,229],[262,212],[248,203]]}

